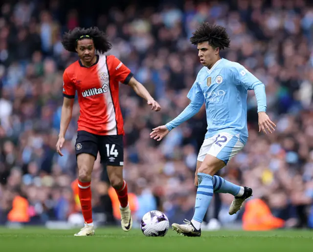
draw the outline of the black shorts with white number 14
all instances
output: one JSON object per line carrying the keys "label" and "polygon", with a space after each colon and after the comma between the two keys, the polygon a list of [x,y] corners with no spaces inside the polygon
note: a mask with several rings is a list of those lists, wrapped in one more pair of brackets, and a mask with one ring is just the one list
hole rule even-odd
{"label": "black shorts with white number 14", "polygon": [[108,166],[124,165],[124,147],[123,136],[101,136],[91,134],[85,130],[77,131],[75,143],[76,157],[81,153],[88,153],[97,158],[98,151],[101,157],[101,163]]}

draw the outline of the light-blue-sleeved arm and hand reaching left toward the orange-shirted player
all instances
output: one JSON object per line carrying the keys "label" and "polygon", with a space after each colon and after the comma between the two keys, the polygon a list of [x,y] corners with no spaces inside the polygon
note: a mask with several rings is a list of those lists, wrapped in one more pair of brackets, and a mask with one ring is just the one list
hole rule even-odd
{"label": "light-blue-sleeved arm and hand reaching left toward the orange-shirted player", "polygon": [[153,131],[150,133],[150,138],[153,138],[156,141],[161,141],[173,128],[179,126],[197,114],[201,106],[202,104],[200,103],[191,102],[174,120],[166,125],[158,126],[152,129]]}

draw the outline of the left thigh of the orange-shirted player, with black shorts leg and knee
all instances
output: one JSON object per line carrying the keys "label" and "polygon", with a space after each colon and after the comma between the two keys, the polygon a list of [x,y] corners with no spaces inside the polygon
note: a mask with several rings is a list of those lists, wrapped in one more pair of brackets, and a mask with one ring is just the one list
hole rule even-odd
{"label": "left thigh of the orange-shirted player, with black shorts leg and knee", "polygon": [[75,154],[78,177],[81,181],[89,181],[91,179],[91,172],[97,153],[97,137],[87,131],[78,131],[75,143]]}

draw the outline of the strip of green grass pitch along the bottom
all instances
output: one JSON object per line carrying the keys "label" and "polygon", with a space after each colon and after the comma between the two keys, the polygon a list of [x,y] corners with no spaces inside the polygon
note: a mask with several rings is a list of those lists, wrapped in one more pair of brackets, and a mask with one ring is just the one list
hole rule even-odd
{"label": "strip of green grass pitch along the bottom", "polygon": [[140,230],[97,229],[95,236],[74,237],[77,230],[0,229],[0,252],[313,252],[313,231],[207,231],[199,237],[145,237]]}

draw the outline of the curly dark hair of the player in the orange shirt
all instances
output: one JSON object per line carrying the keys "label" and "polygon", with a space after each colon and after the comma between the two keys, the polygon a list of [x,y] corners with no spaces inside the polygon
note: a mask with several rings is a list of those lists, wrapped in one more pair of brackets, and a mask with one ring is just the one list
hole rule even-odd
{"label": "curly dark hair of the player in the orange shirt", "polygon": [[87,29],[76,27],[64,34],[62,44],[67,51],[76,52],[77,42],[88,38],[93,40],[95,49],[100,53],[105,53],[112,48],[112,44],[108,41],[105,32],[99,30],[98,27]]}

